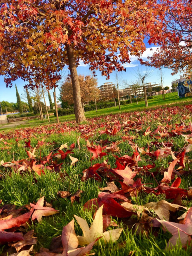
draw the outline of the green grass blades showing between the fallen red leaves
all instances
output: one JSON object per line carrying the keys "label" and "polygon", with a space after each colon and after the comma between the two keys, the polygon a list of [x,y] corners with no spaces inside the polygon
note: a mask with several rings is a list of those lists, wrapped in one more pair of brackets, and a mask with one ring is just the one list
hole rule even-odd
{"label": "green grass blades showing between the fallen red leaves", "polygon": [[[166,95],[168,96],[174,96],[174,94]],[[160,98],[160,97],[159,97]],[[176,97],[175,97],[176,98]],[[178,100],[178,99],[177,99]],[[168,99],[167,99],[168,102]],[[182,102],[182,100],[181,100]],[[152,102],[149,102],[149,106],[152,106],[153,103],[157,102],[156,100],[152,100]],[[161,102],[162,103],[162,102]],[[128,106],[122,106],[122,111],[126,111],[128,108],[129,110],[134,110],[134,108],[144,109],[144,103],[138,104],[136,106],[135,104],[130,104]],[[105,112],[104,112],[105,111]],[[107,112],[106,112],[107,111]],[[106,114],[106,113],[116,113],[118,112],[115,108],[110,109],[102,109],[97,112],[97,115]],[[185,108],[181,109],[180,114],[176,114],[172,116],[171,120],[166,121],[167,113],[163,113],[163,111],[160,114],[159,120],[150,117],[150,115],[147,116],[147,119],[145,120],[146,115],[144,114],[142,116],[143,124],[142,124],[142,130],[141,132],[137,133],[135,130],[131,130],[128,132],[130,135],[136,135],[136,138],[133,140],[135,144],[138,145],[138,147],[145,147],[147,148],[147,144],[151,145],[152,141],[172,141],[174,144],[174,150],[179,151],[181,150],[184,145],[186,144],[185,139],[182,135],[168,138],[168,139],[155,139],[154,136],[143,136],[143,132],[146,130],[146,128],[150,125],[151,130],[154,131],[158,127],[158,122],[161,122],[163,126],[166,126],[166,124],[173,125],[173,128],[175,126],[175,123],[180,123],[180,120],[183,118],[183,114],[187,115],[189,114],[190,117],[186,120],[186,123],[189,123],[192,121],[191,114],[187,112]],[[91,117],[92,115],[95,116],[94,112],[91,111],[89,113],[86,113],[86,116]],[[118,116],[117,116],[118,117]],[[61,117],[60,121],[64,121],[66,118],[69,117]],[[71,116],[71,119],[73,117]],[[54,122],[54,118],[51,118],[51,121]],[[105,119],[101,120],[100,122],[106,122]],[[113,119],[112,119],[113,121]],[[122,122],[121,117],[119,118],[119,121]],[[32,124],[32,123],[31,123]],[[90,121],[91,124],[91,121]],[[74,124],[70,124],[73,126]],[[113,124],[112,124],[113,126]],[[54,128],[54,127],[53,127]],[[42,127],[41,127],[42,129]],[[47,128],[51,129],[51,127]],[[55,128],[54,128],[55,129]],[[27,128],[25,129],[27,130]],[[24,130],[24,131],[25,131]],[[170,131],[172,128],[169,129]],[[98,133],[99,129],[94,132],[93,138],[90,138],[90,141],[95,140],[106,140],[107,138],[109,141],[121,141],[122,135],[125,135],[125,133],[121,130],[118,132],[116,136],[109,136],[106,134],[100,135]],[[42,134],[37,133],[34,131],[32,133],[31,137],[28,137],[31,139],[31,145],[32,147],[35,147],[38,143],[38,140],[42,140],[42,138],[45,138],[45,142],[51,142],[52,144],[44,145],[42,147],[38,147],[36,149],[36,156],[37,159],[39,157],[45,157],[47,156],[52,150],[54,150],[57,147],[60,147],[61,144],[64,144],[68,142],[68,145],[72,143],[76,143],[76,148],[74,149],[74,154],[72,156],[77,157],[79,161],[76,163],[75,166],[70,166],[70,158],[67,157],[65,160],[63,160],[64,164],[61,168],[61,172],[66,172],[69,176],[66,176],[65,178],[60,178],[59,173],[50,172],[45,170],[45,175],[38,176],[36,173],[33,172],[17,172],[12,171],[11,169],[0,167],[0,174],[3,176],[3,179],[0,180],[0,199],[3,200],[4,204],[14,204],[17,206],[22,206],[29,204],[30,202],[37,202],[39,198],[42,196],[45,196],[45,199],[47,202],[50,202],[53,207],[60,211],[59,214],[53,215],[51,217],[44,217],[41,223],[33,224],[29,227],[29,230],[34,229],[35,230],[35,237],[37,237],[38,244],[35,246],[35,250],[39,250],[40,247],[49,248],[49,245],[51,243],[52,237],[57,237],[61,234],[63,227],[68,224],[72,218],[73,215],[76,214],[91,224],[93,221],[93,215],[92,212],[88,212],[83,210],[83,205],[85,202],[87,202],[91,198],[97,198],[99,187],[106,186],[106,180],[102,179],[102,182],[95,181],[94,179],[89,179],[86,182],[81,181],[81,175],[82,171],[86,168],[89,168],[91,164],[95,164],[98,162],[103,162],[103,159],[107,160],[109,159],[108,164],[113,168],[115,167],[115,157],[113,154],[109,153],[109,156],[104,156],[101,160],[96,159],[93,160],[91,163],[90,160],[90,153],[87,150],[86,147],[86,140],[81,139],[80,140],[80,147],[79,150],[77,147],[77,138],[80,135],[79,131],[72,131],[70,134],[68,133],[55,133],[53,134]],[[19,139],[19,145],[15,141],[15,138],[7,138],[7,142],[12,143],[11,148],[4,149],[0,151],[0,161],[4,160],[11,161],[13,158],[15,160],[20,159],[26,159],[26,148],[25,146],[25,140],[28,139],[22,139],[21,136],[19,137],[17,135],[17,138]],[[0,141],[0,148],[5,147],[3,141]],[[109,143],[110,144],[110,143]],[[9,146],[9,145],[7,145]],[[132,155],[133,149],[128,144],[128,141],[122,142],[119,144],[121,155]],[[157,148],[153,146],[153,149],[156,150]],[[192,152],[187,153],[187,156],[189,159],[192,159]],[[153,159],[146,156],[141,155],[142,161],[139,161],[139,166],[147,165],[153,162]],[[162,167],[167,168],[168,162],[172,161],[172,157],[168,156],[164,159],[158,159],[154,160],[154,163],[156,167],[153,170],[160,169]],[[186,165],[186,169],[188,170],[188,167],[192,167],[191,163],[190,166],[188,164]],[[155,179],[153,179],[151,176],[139,176],[142,178],[142,183],[152,183],[153,185],[148,186],[157,186]],[[157,181],[160,182],[162,179],[162,175],[157,175],[156,177]],[[119,186],[118,182],[116,182],[116,185]],[[181,188],[187,188],[192,186],[192,176],[188,175],[185,178],[182,177],[182,183]],[[76,192],[78,189],[83,191],[82,197],[80,199],[80,203],[74,203],[71,204],[70,199],[63,199],[59,198],[57,196],[58,191],[70,191],[71,193]],[[140,193],[138,198],[131,198],[133,204],[138,205],[144,205],[147,202],[158,202],[159,200],[165,199],[164,195],[155,196],[153,194],[147,194],[147,193]],[[170,200],[169,200],[170,201]],[[188,207],[192,206],[192,202],[185,200],[184,204]],[[116,218],[114,218],[115,221],[117,221]],[[99,256],[121,256],[121,255],[133,255],[133,256],[188,256],[190,255],[190,247],[188,246],[187,249],[182,249],[182,246],[178,243],[176,247],[174,247],[171,250],[165,250],[166,243],[168,242],[169,238],[171,237],[170,233],[166,232],[164,233],[163,230],[160,229],[158,237],[156,237],[156,234],[152,231],[149,233],[143,233],[143,234],[137,234],[134,230],[128,229],[126,224],[123,224],[123,221],[119,220],[120,227],[122,226],[124,228],[122,235],[118,242],[116,243],[109,243],[104,245],[102,242],[99,242],[98,246],[95,246],[92,252],[95,252],[96,255]],[[110,228],[109,228],[110,229]],[[82,235],[82,231],[79,228],[78,224],[75,223],[75,231],[78,235]],[[122,242],[125,242],[125,247],[121,247],[119,244]]]}

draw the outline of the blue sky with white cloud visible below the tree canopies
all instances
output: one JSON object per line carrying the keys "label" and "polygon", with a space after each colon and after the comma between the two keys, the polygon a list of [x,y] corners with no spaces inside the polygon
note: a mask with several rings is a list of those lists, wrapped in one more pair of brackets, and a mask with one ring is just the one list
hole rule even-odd
{"label": "blue sky with white cloud visible below the tree canopies", "polygon": [[[156,50],[157,47],[150,47],[149,45],[147,46],[147,50],[144,52],[144,54],[142,55],[143,59],[147,60],[147,56],[151,56],[152,52],[150,51],[150,49],[153,49],[153,51]],[[130,64],[125,64],[124,65],[126,67],[126,71],[121,72],[122,73],[122,80],[127,80],[128,82],[132,81],[132,80],[136,80],[136,77],[134,77],[135,72],[137,68],[141,69],[142,71],[145,70],[145,66],[142,66],[138,61],[136,57],[131,57],[131,63]],[[152,76],[149,77],[146,82],[149,83],[159,83],[159,77],[158,77],[158,70],[151,68],[153,70]],[[79,67],[77,68],[77,72],[78,74],[82,74],[82,75],[89,75],[90,70],[89,70],[89,66],[88,65],[84,65],[83,63],[80,62]],[[180,74],[174,75],[172,76],[172,70],[170,69],[164,69],[164,87],[165,86],[169,86],[171,87],[171,82],[175,79],[178,79],[180,77]],[[68,69],[66,68],[64,70],[64,75],[66,76],[68,74]],[[112,73],[110,76],[110,79],[107,80],[106,77],[102,77],[101,76],[101,72],[100,71],[96,71],[97,74],[97,79],[98,79],[98,86],[102,85],[105,82],[114,82],[114,74]],[[18,79],[16,82],[17,84],[17,88],[19,91],[19,94],[21,94],[23,92],[23,86],[25,85],[25,82],[22,81],[21,79]],[[14,83],[13,83],[14,84]],[[122,85],[122,88],[124,86]],[[51,93],[51,97],[52,97],[52,101],[53,101],[53,90],[50,91]],[[56,96],[59,96],[59,90],[57,88],[56,90]],[[15,87],[13,86],[13,88],[6,88],[6,85],[4,83],[4,77],[0,76],[0,101],[8,101],[8,102],[16,102],[16,93],[15,93]],[[48,102],[48,98],[46,98],[46,102],[49,105]]]}

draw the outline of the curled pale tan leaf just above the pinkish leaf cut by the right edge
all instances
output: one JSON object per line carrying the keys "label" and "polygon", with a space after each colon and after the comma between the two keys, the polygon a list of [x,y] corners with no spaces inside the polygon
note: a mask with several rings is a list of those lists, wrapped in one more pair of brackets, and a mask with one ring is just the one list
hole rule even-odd
{"label": "curled pale tan leaf just above the pinkish leaf cut by the right edge", "polygon": [[[179,209],[179,207],[183,207],[181,205],[175,205],[175,204],[171,204],[168,203],[165,200],[161,200],[158,203],[155,202],[150,202],[145,204],[144,206],[146,206],[148,209],[153,209],[154,212],[157,214],[157,216],[163,220],[167,220],[169,221],[169,217],[170,217],[170,212],[169,211],[177,211]],[[186,207],[183,207],[184,209],[186,209]]]}

